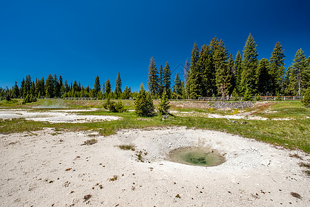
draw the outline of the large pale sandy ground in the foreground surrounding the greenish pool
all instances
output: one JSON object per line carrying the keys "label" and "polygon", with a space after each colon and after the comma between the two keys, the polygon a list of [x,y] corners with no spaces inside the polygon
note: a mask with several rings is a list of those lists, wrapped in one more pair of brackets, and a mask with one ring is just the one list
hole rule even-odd
{"label": "large pale sandy ground in the foreground surrounding the greenish pool", "polygon": [[[50,128],[34,133],[0,135],[1,206],[310,206],[309,177],[298,166],[310,161],[304,152],[187,128],[121,130],[109,137],[55,135]],[[88,139],[98,142],[81,145]],[[136,151],[120,144],[134,144]],[[170,150],[185,146],[217,149],[226,162],[167,161]]]}

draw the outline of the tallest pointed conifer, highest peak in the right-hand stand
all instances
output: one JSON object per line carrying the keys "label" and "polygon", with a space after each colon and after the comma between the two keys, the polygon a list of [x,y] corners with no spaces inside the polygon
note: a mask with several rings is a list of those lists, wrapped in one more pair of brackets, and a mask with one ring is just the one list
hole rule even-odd
{"label": "tallest pointed conifer, highest peak in the right-hand stand", "polygon": [[249,34],[245,42],[242,58],[242,73],[240,81],[240,92],[242,95],[248,89],[249,93],[256,91],[256,70],[258,68],[258,52],[256,51],[256,43],[254,38]]}

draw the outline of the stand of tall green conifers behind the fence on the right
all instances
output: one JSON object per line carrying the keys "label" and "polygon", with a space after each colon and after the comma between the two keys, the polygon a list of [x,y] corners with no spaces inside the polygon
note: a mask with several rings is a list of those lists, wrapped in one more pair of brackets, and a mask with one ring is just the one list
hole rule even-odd
{"label": "stand of tall green conifers behind the fence on the right", "polygon": [[285,54],[277,42],[271,57],[258,60],[254,37],[249,34],[242,55],[234,58],[222,39],[214,37],[200,50],[195,42],[190,61],[185,62],[184,80],[178,72],[170,88],[169,65],[159,71],[152,58],[149,64],[148,88],[153,97],[161,97],[163,89],[168,97],[198,99],[211,96],[304,95],[310,86],[310,56],[302,49],[296,52],[291,66],[285,70]]}

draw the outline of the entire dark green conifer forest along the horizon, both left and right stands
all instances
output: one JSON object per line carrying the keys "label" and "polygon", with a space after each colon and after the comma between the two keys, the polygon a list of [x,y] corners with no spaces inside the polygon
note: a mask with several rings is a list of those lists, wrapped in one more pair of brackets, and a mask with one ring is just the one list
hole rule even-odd
{"label": "entire dark green conifer forest along the horizon, both left and right stands", "polygon": [[[256,41],[251,34],[243,50],[236,55],[229,52],[222,39],[214,37],[209,44],[199,47],[194,43],[190,61],[185,61],[183,77],[176,72],[172,76],[169,63],[156,65],[150,59],[147,88],[152,99],[163,92],[169,99],[198,99],[199,97],[246,97],[246,96],[302,96],[310,87],[310,56],[300,48],[291,65],[285,67],[285,49],[276,42],[271,56],[259,59]],[[158,67],[159,66],[159,67]],[[145,67],[147,68],[147,67]],[[145,69],[147,70],[147,69]],[[172,84],[173,80],[173,84]],[[97,75],[94,87],[68,83],[63,77],[48,75],[35,80],[27,75],[12,88],[0,88],[0,98],[27,99],[92,97],[96,99],[130,99],[136,97],[130,86],[122,90],[118,72],[114,90],[109,79],[102,81]]]}

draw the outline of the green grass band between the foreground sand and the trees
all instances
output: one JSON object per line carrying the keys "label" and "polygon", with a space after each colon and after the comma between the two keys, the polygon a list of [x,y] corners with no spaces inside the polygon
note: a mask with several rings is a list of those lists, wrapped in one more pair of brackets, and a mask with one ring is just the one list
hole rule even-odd
{"label": "green grass band between the foreground sand and the trees", "polygon": [[[41,100],[40,100],[41,101]],[[42,100],[45,101],[45,100]],[[53,100],[50,103],[53,103]],[[72,100],[61,100],[65,106],[71,106]],[[38,101],[39,102],[39,101]],[[90,105],[99,105],[105,101],[77,101],[75,107],[71,108],[90,108]],[[124,101],[128,108],[132,108],[133,101]],[[124,103],[123,102],[123,103]],[[121,117],[116,121],[101,121],[81,124],[50,124],[48,122],[28,121],[25,119],[0,120],[0,133],[9,134],[13,132],[32,132],[42,130],[43,128],[55,128],[55,130],[83,131],[95,130],[100,135],[112,135],[117,130],[123,128],[161,128],[165,126],[187,126],[188,128],[203,128],[208,130],[218,130],[229,132],[234,135],[256,139],[284,146],[285,148],[299,148],[304,152],[310,152],[310,109],[302,107],[300,101],[271,101],[267,106],[260,108],[248,108],[247,111],[256,111],[255,115],[270,118],[267,121],[247,120],[247,124],[241,124],[244,120],[236,120],[237,123],[227,121],[227,119],[211,119],[205,116],[199,116],[200,112],[209,112],[206,110],[194,110],[198,116],[188,117],[169,117],[161,120],[159,117],[137,117],[134,112],[113,113],[106,110],[96,110],[90,112],[81,112],[84,115],[115,115]],[[14,103],[10,103],[13,105]],[[74,102],[75,104],[75,102]],[[11,107],[11,106],[9,106]],[[22,106],[24,107],[24,106]],[[172,109],[174,110],[174,109]],[[187,111],[189,109],[179,109]],[[275,113],[265,113],[266,110],[276,111]],[[233,110],[231,110],[233,111]],[[217,110],[215,111],[217,112]],[[227,114],[229,114],[227,111]],[[183,114],[184,115],[184,114]],[[289,121],[276,121],[273,118],[289,118]]]}

